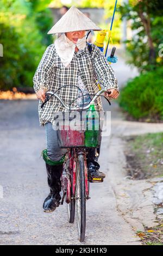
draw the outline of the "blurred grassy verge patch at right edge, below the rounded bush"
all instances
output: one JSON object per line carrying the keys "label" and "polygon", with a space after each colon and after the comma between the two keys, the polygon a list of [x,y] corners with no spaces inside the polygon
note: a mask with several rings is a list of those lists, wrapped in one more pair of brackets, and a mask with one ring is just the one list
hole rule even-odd
{"label": "blurred grassy verge patch at right edge, below the rounded bush", "polygon": [[126,158],[135,179],[163,176],[163,133],[127,137]]}

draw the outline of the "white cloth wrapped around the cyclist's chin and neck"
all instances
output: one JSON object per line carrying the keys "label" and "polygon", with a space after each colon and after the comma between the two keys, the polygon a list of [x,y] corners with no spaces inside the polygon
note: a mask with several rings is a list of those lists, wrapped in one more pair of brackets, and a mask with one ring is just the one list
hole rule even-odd
{"label": "white cloth wrapped around the cyclist's chin and neck", "polygon": [[77,44],[70,41],[65,33],[61,34],[54,42],[55,49],[61,59],[61,62],[67,67],[75,51],[76,46],[79,50],[83,50],[86,46],[86,35],[82,39],[78,39]]}

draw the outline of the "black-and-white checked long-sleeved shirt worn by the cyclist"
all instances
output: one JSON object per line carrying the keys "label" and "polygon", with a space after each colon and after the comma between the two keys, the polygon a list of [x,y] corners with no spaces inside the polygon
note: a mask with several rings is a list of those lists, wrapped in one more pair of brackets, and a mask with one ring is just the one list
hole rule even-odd
{"label": "black-and-white checked long-sleeved shirt worn by the cyclist", "polygon": [[[98,92],[97,79],[102,88],[115,88],[118,90],[115,73],[104,54],[93,44],[92,52],[90,53],[86,43],[84,50],[74,52],[70,66],[67,68],[62,64],[54,44],[49,45],[33,78],[35,92],[41,88],[55,92],[61,86],[66,86],[61,88],[57,94],[69,106],[71,101],[76,99],[78,95],[78,88],[74,87],[77,86],[78,74],[82,77],[89,94],[96,94]],[[54,123],[54,112],[66,112],[65,107],[54,96],[51,97],[42,109],[41,103],[42,101],[40,100],[39,119],[41,126],[48,122]],[[76,106],[76,101],[72,104],[72,107],[74,106]],[[101,97],[97,97],[95,106],[98,111],[102,110]]]}

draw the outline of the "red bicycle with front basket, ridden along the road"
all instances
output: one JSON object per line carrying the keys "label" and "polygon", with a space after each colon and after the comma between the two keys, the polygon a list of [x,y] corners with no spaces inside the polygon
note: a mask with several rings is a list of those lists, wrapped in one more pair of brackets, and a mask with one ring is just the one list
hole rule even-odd
{"label": "red bicycle with front basket, ridden along the road", "polygon": [[[87,111],[90,105],[95,102],[98,96],[106,92],[106,89],[100,90],[87,106],[82,107],[83,111]],[[67,106],[60,96],[55,92],[47,92],[47,99],[42,103],[41,107],[50,99],[55,96],[61,102],[68,112],[68,119],[70,119],[70,113],[74,111],[81,111],[81,108],[71,108]],[[83,95],[84,96],[84,95]],[[106,98],[106,100],[108,100]],[[109,101],[109,100],[108,100]],[[110,104],[110,101],[109,101]],[[71,112],[72,111],[72,112]],[[64,115],[65,118],[65,115]],[[83,116],[82,116],[83,118]],[[99,116],[100,119],[100,116]],[[65,121],[65,119],[64,119]],[[81,115],[80,115],[81,121]],[[86,119],[84,120],[86,121]],[[64,126],[64,124],[63,124]],[[63,127],[62,127],[63,128]],[[64,126],[65,128],[65,126]],[[82,131],[82,132],[81,132]],[[79,133],[72,132],[71,129],[58,129],[58,141],[61,148],[67,148],[65,155],[65,161],[63,164],[63,172],[61,175],[61,184],[63,196],[60,204],[67,203],[68,221],[74,222],[75,209],[77,214],[77,228],[78,228],[78,239],[83,242],[85,239],[85,225],[86,225],[86,200],[90,199],[89,196],[89,182],[103,182],[103,178],[90,178],[89,169],[87,168],[87,162],[89,162],[89,148],[85,147],[84,144],[84,132],[79,130]],[[69,133],[68,133],[69,132]],[[68,139],[67,139],[68,134]],[[80,134],[80,135],[79,135]],[[78,135],[79,139],[74,143],[74,135]],[[99,128],[99,137],[97,139],[97,145],[101,143],[101,129]],[[95,147],[93,147],[95,148]]]}

